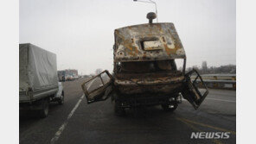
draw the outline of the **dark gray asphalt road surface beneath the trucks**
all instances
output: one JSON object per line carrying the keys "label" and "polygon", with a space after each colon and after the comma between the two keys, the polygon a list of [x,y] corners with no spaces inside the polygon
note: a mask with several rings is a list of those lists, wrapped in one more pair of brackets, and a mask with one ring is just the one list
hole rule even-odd
{"label": "dark gray asphalt road surface beneath the trucks", "polygon": [[[114,115],[110,99],[86,103],[80,84],[64,82],[64,105],[51,103],[49,116],[20,112],[21,144],[235,143],[236,91],[209,90],[198,110],[182,101],[173,113],[160,106]],[[192,132],[229,132],[228,139],[191,139]]]}

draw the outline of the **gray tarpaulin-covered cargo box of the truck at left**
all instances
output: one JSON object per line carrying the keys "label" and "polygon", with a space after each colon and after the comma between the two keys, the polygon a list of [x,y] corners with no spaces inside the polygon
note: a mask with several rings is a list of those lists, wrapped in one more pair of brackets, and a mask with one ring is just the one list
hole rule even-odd
{"label": "gray tarpaulin-covered cargo box of the truck at left", "polygon": [[20,103],[58,91],[56,54],[30,43],[19,45]]}

